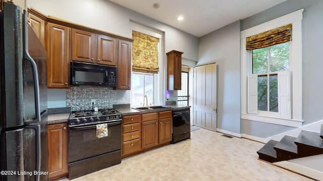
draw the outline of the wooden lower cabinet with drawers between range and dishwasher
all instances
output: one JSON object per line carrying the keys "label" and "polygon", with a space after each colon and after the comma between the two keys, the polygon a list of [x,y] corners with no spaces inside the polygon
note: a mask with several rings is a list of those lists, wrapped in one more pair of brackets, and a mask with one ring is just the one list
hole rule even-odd
{"label": "wooden lower cabinet with drawers between range and dishwasher", "polygon": [[124,116],[122,158],[170,144],[172,128],[172,111]]}

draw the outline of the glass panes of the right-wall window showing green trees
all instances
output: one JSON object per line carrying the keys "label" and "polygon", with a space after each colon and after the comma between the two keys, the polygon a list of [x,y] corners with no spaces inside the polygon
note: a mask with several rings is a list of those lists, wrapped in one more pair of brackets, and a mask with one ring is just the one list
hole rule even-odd
{"label": "glass panes of the right-wall window showing green trees", "polygon": [[[279,112],[278,73],[289,70],[290,42],[252,50],[252,72],[257,75],[258,111]],[[282,85],[284,86],[284,85]],[[287,86],[287,85],[286,85]],[[290,104],[290,102],[289,102]]]}

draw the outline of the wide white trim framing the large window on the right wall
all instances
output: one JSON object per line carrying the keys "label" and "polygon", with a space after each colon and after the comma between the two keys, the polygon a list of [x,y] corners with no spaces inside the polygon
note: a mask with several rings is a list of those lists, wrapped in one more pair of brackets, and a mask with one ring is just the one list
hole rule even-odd
{"label": "wide white trim framing the large window on the right wall", "polygon": [[[302,17],[304,9],[241,31],[241,119],[284,126],[302,126]],[[292,119],[274,118],[247,113],[248,74],[250,72],[250,51],[246,50],[246,38],[261,32],[292,24],[290,45],[290,71],[292,83]]]}

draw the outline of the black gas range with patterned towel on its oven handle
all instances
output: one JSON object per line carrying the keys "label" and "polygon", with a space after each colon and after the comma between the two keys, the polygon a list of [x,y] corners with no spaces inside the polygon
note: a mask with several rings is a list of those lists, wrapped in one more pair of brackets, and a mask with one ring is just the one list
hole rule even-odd
{"label": "black gas range with patterned towel on its oven handle", "polygon": [[122,114],[73,111],[69,118],[69,179],[121,163]]}

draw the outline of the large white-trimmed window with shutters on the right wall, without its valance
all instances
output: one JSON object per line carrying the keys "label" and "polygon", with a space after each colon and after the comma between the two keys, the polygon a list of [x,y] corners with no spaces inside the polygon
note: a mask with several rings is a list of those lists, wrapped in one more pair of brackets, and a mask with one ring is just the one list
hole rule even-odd
{"label": "large white-trimmed window with shutters on the right wall, without its valance", "polygon": [[[302,126],[303,11],[241,32],[241,119]],[[289,24],[292,41],[247,49],[250,36]]]}

